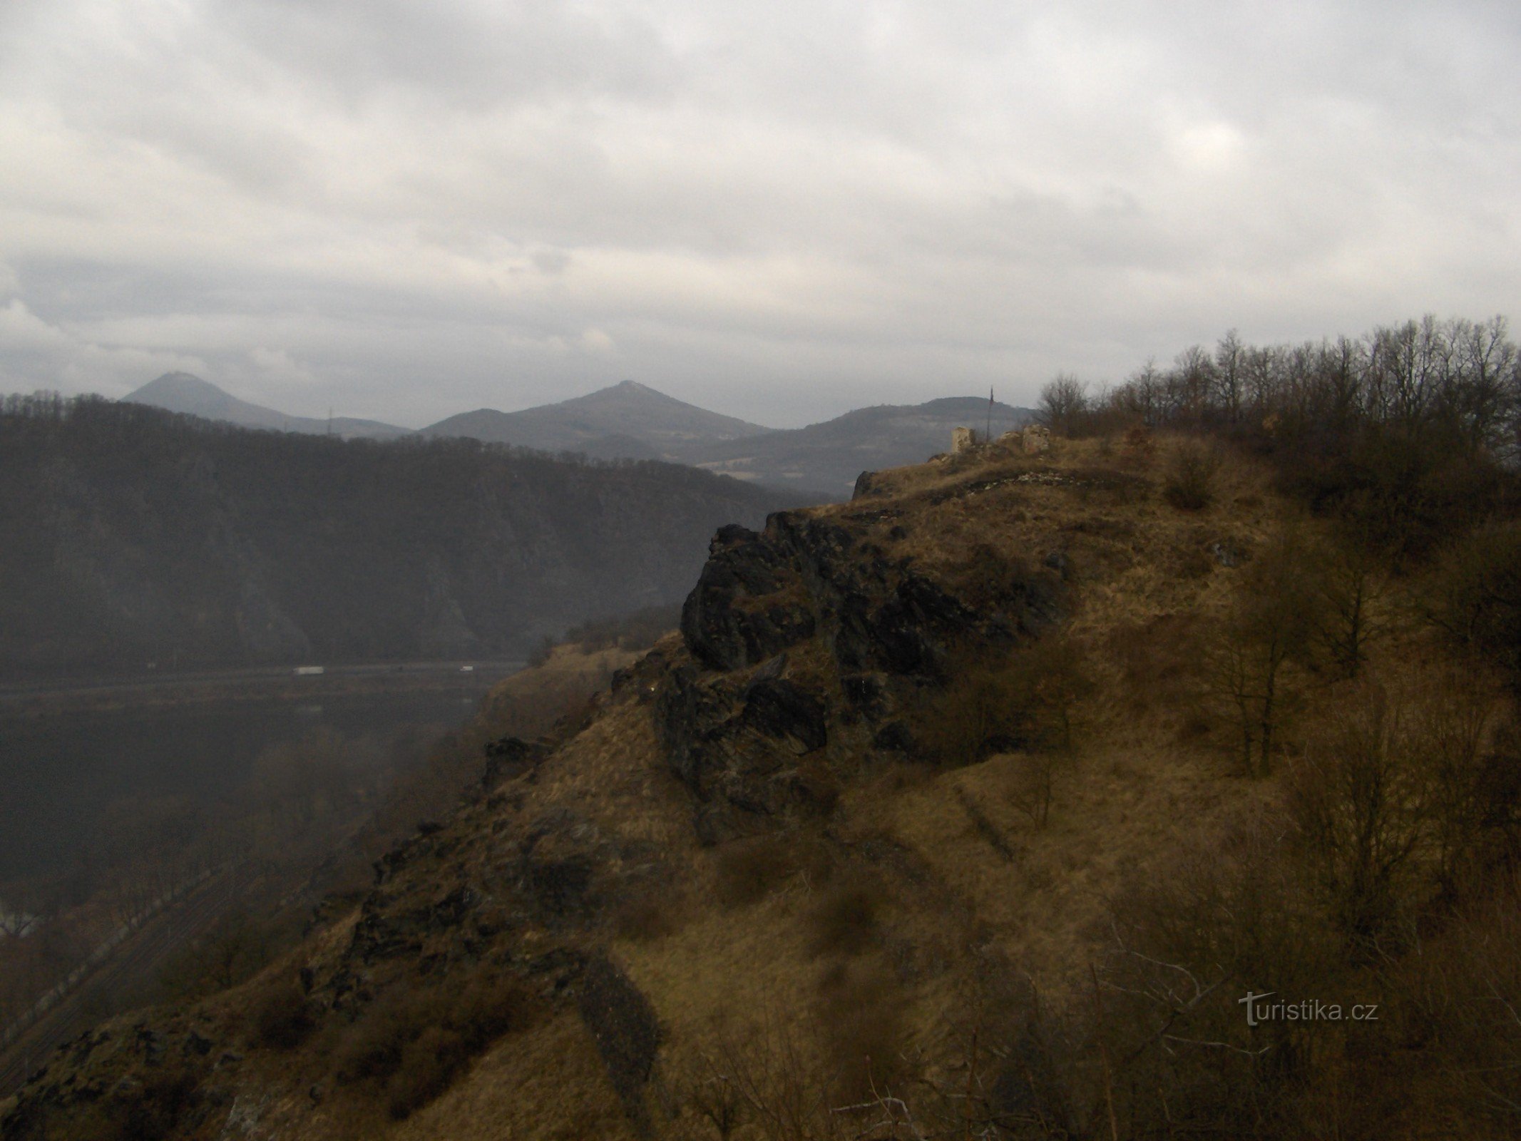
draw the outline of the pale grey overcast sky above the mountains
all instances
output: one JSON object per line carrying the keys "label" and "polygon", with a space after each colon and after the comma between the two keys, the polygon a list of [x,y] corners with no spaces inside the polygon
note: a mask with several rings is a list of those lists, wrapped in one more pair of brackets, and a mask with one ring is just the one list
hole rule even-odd
{"label": "pale grey overcast sky above the mountains", "polygon": [[0,391],[776,426],[1521,316],[1521,5],[0,0]]}

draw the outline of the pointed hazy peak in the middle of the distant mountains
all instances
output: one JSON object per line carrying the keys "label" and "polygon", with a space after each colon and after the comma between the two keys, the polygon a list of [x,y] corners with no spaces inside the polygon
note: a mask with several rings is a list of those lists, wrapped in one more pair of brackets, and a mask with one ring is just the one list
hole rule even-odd
{"label": "pointed hazy peak in the middle of the distant mountains", "polygon": [[497,412],[461,412],[421,429],[429,437],[470,437],[546,452],[631,459],[680,459],[700,444],[770,432],[732,415],[709,412],[633,380],[555,405]]}

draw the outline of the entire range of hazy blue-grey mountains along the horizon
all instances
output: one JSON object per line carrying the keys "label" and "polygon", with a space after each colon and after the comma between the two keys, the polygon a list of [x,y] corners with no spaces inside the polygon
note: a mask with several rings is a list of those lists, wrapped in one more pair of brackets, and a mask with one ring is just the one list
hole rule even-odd
{"label": "entire range of hazy blue-grey mountains along the horizon", "polygon": [[[409,435],[405,427],[374,420],[336,417],[330,421],[294,417],[239,400],[199,377],[169,373],[143,385],[126,400],[227,420],[245,427],[388,440]],[[554,405],[499,412],[461,412],[417,435],[464,437],[541,452],[580,452],[595,459],[666,459],[732,475],[791,494],[844,499],[864,470],[917,464],[951,444],[951,429],[1021,427],[1034,412],[981,397],[946,397],[923,405],[859,408],[820,424],[774,429],[709,412],[697,405],[624,380]]]}

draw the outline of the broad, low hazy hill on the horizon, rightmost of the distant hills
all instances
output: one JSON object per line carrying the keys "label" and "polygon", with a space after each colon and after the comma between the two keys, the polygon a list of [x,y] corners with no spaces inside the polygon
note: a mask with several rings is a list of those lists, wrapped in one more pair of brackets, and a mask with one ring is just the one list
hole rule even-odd
{"label": "broad, low hazy hill on the horizon, rightmost of the distant hills", "polygon": [[[1022,427],[1034,412],[993,405],[993,435]],[[858,408],[821,424],[795,427],[732,443],[683,449],[684,462],[754,479],[773,487],[797,487],[832,499],[850,494],[861,472],[917,464],[951,447],[951,429],[987,429],[981,397],[946,397],[923,405]]]}

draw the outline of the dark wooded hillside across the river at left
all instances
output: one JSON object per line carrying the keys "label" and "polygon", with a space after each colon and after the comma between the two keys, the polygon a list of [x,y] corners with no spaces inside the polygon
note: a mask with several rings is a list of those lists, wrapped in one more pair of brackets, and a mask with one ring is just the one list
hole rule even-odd
{"label": "dark wooded hillside across the river at left", "polygon": [[669,464],[8,397],[0,671],[514,654],[678,601],[715,526],[782,505]]}

